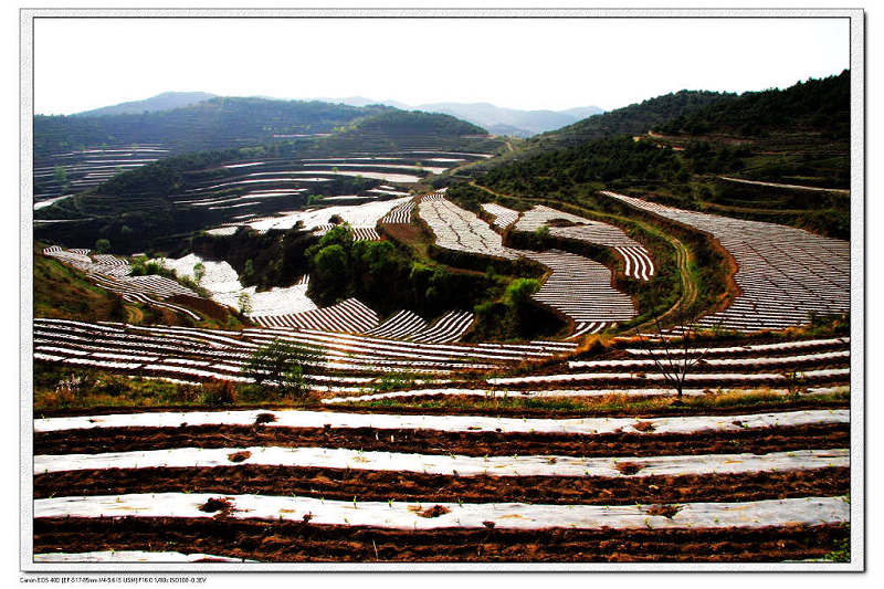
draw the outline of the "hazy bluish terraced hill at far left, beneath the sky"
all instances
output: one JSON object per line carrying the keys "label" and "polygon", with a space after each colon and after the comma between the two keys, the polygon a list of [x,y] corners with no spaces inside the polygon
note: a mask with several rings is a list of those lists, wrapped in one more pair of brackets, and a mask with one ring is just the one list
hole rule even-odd
{"label": "hazy bluish terraced hill at far left, beneath the sky", "polygon": [[388,111],[322,102],[211,98],[170,111],[34,117],[34,200],[82,192],[185,152],[322,136]]}

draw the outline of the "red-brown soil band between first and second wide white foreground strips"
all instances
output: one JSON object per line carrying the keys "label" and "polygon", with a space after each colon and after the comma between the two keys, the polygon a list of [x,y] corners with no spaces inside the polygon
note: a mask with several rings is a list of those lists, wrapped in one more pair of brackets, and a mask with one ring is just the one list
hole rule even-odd
{"label": "red-brown soil band between first and second wide white foreground strips", "polygon": [[850,446],[850,424],[807,424],[734,432],[570,433],[442,432],[436,430],[325,429],[265,425],[106,428],[34,434],[34,454],[95,454],[173,448],[322,446],[422,454],[485,456],[654,456],[828,450]]}

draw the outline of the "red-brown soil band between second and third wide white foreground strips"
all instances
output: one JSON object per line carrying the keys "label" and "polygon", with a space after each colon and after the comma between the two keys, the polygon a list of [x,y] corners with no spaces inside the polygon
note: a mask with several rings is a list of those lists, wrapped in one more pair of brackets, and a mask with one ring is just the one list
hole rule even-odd
{"label": "red-brown soil band between second and third wide white foreground strips", "polygon": [[850,469],[682,476],[453,476],[244,464],[65,471],[34,475],[34,497],[127,493],[303,495],[327,499],[421,503],[558,503],[631,505],[836,496]]}

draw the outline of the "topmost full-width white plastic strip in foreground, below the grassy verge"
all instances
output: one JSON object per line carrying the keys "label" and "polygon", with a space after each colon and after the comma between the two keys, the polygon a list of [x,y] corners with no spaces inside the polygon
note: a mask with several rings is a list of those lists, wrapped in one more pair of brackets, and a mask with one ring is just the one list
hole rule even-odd
{"label": "topmost full-width white plastic strip in foreground, below the grassy verge", "polygon": [[[276,421],[263,427],[287,428],[375,428],[415,429],[452,432],[501,431],[507,433],[559,432],[597,434],[617,431],[643,433],[633,425],[633,418],[516,419],[481,416],[397,416],[383,413],[347,413],[332,411],[190,411],[151,412],[109,416],[77,416],[34,420],[34,433],[92,428],[178,428],[189,425],[252,425],[259,414],[269,413]],[[749,413],[740,416],[691,416],[650,418],[654,433],[694,433],[699,431],[740,431],[771,425],[809,423],[850,423],[846,409]]]}

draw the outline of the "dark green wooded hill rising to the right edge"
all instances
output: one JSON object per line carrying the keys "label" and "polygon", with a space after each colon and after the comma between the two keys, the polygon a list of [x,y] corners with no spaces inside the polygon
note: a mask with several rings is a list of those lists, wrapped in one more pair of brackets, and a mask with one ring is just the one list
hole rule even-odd
{"label": "dark green wooded hill rising to the right edge", "polygon": [[612,188],[846,239],[849,122],[849,72],[740,96],[682,92],[530,139],[471,172],[503,193],[603,208],[593,193]]}

